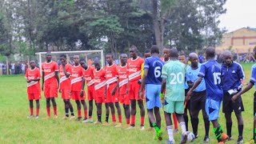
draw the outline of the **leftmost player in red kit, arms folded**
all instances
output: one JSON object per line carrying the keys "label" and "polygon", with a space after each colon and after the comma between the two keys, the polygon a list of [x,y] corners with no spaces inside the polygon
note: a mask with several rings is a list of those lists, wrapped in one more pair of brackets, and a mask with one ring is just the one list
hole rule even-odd
{"label": "leftmost player in red kit, arms folded", "polygon": [[30,61],[30,68],[26,70],[25,74],[26,82],[27,82],[27,98],[30,101],[30,116],[27,118],[34,117],[34,107],[33,100],[37,103],[37,112],[35,118],[38,118],[40,103],[39,99],[41,99],[41,89],[40,89],[40,70],[35,67],[35,62]]}

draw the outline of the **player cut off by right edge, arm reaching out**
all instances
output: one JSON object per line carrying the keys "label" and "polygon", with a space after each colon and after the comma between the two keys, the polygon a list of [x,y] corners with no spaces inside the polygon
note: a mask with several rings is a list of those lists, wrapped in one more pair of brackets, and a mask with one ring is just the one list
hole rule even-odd
{"label": "player cut off by right edge, arm reaching out", "polygon": [[[256,46],[254,47],[254,58],[256,58]],[[256,64],[254,64],[251,67],[251,77],[250,77],[250,82],[248,83],[248,86],[244,88],[242,91],[238,92],[238,94],[235,94],[231,100],[233,102],[236,102],[238,98],[246,91],[250,90],[253,86],[256,86]],[[255,89],[256,90],[256,89]],[[253,138],[247,142],[249,144],[254,144],[256,142],[256,91],[254,92],[254,130],[253,130]]]}

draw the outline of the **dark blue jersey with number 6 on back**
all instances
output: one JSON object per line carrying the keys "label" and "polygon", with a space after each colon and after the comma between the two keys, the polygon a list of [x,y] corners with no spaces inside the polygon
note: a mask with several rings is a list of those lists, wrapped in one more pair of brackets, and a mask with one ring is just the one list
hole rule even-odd
{"label": "dark blue jersey with number 6 on back", "polygon": [[160,58],[153,56],[146,58],[144,62],[144,69],[148,69],[146,84],[162,84],[161,72],[164,64],[165,62],[162,62]]}

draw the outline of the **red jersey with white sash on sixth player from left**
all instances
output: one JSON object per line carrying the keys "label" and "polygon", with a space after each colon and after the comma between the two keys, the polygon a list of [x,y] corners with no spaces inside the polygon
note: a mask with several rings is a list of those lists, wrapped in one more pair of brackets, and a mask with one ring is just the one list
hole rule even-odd
{"label": "red jersey with white sash on sixth player from left", "polygon": [[103,86],[106,86],[106,71],[101,68],[101,70],[94,70],[94,89],[98,90]]}

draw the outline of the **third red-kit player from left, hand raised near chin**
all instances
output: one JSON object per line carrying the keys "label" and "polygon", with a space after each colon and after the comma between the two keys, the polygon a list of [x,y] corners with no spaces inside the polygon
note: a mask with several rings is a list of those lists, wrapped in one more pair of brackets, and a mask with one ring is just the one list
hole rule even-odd
{"label": "third red-kit player from left, hand raised near chin", "polygon": [[59,66],[59,75],[60,75],[60,80],[59,80],[60,89],[59,90],[62,93],[62,99],[65,104],[66,116],[64,117],[64,119],[69,118],[69,109],[71,112],[70,119],[72,119],[72,118],[74,118],[74,109],[70,102],[70,98],[71,98],[70,74],[71,74],[72,66],[66,62],[65,54],[62,54],[60,56],[60,59],[62,61],[62,65]]}

